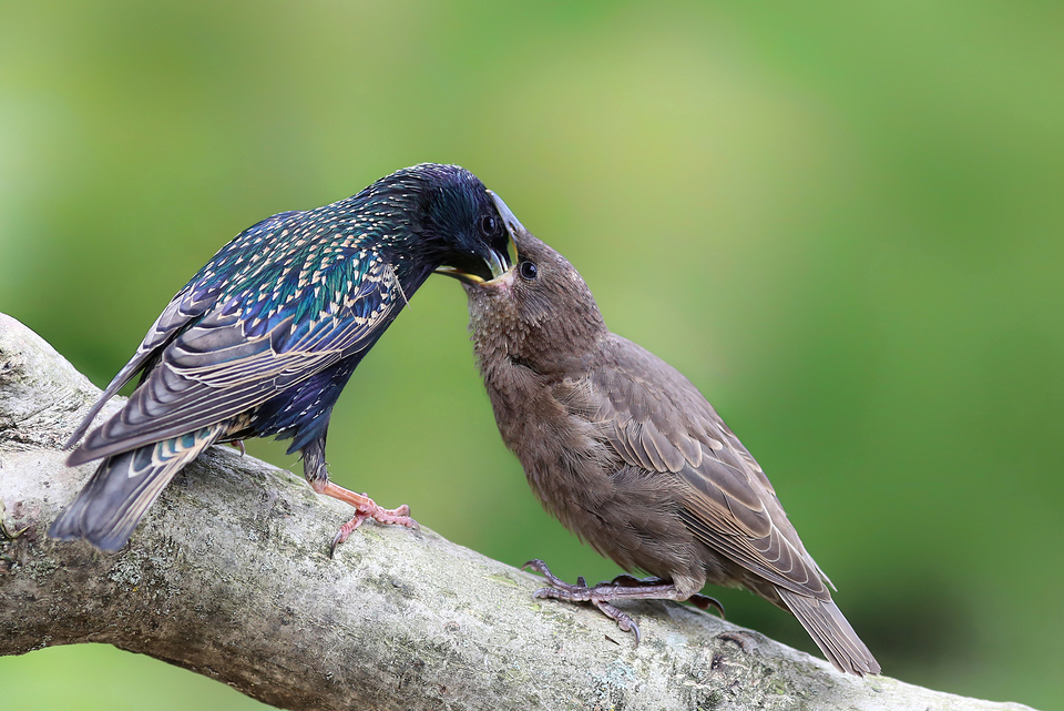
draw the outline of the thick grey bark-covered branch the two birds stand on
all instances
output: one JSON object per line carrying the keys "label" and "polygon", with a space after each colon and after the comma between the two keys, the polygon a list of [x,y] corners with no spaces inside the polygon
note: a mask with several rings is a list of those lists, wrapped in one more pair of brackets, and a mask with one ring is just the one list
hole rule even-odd
{"label": "thick grey bark-covered branch the two birds stand on", "polygon": [[[109,642],[289,709],[1025,709],[858,679],[688,606],[633,603],[643,642],[431,530],[350,517],[228,447],[182,471],[129,547],[45,529],[94,465],[63,440],[99,390],[0,314],[0,654]],[[24,530],[23,530],[24,529]]]}

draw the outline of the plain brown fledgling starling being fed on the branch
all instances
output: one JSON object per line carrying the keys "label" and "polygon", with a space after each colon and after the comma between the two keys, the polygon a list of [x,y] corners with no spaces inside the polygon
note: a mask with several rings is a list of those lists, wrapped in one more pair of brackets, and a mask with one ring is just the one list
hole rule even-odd
{"label": "plain brown fledgling starling being fed on the branch", "polygon": [[518,223],[514,266],[466,281],[478,365],[507,446],[543,506],[628,571],[569,585],[542,561],[536,597],[592,602],[624,631],[617,600],[692,600],[707,583],[744,587],[790,611],[842,671],[879,664],[831,600],[773,485],[677,370],[611,333],[573,266]]}

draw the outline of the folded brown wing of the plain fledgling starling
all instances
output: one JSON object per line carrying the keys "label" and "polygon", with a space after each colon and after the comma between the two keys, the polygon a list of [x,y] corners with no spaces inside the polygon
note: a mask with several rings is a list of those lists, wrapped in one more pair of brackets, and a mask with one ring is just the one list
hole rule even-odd
{"label": "folded brown wing of the plain fledgling starling", "polygon": [[830,599],[768,477],[698,389],[664,360],[611,335],[590,373],[586,414],[632,466],[679,477],[684,521],[710,548],[785,589]]}

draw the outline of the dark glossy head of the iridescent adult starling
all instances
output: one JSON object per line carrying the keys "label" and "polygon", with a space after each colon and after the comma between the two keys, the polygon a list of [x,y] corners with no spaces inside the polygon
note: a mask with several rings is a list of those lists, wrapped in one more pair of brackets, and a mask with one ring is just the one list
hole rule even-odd
{"label": "dark glossy head of the iridescent adult starling", "polygon": [[510,234],[491,194],[464,167],[421,163],[381,179],[372,189],[382,214],[398,206],[409,215],[417,258],[429,271],[487,282],[512,265]]}

